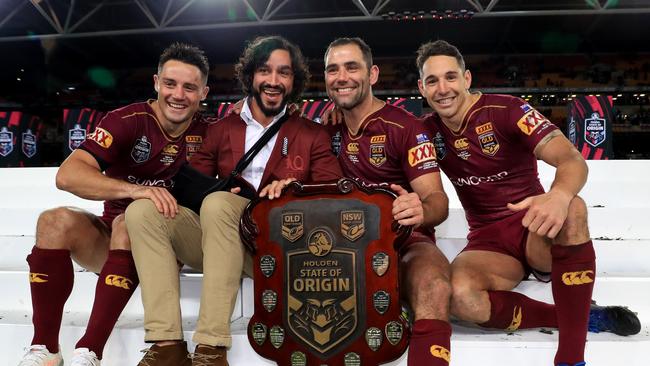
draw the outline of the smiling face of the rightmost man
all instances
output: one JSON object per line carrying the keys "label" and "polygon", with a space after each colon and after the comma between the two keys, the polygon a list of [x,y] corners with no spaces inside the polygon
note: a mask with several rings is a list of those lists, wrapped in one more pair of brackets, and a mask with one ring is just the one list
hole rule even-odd
{"label": "smiling face of the rightmost man", "polygon": [[420,70],[418,88],[443,121],[458,124],[471,106],[472,75],[451,56],[431,56]]}

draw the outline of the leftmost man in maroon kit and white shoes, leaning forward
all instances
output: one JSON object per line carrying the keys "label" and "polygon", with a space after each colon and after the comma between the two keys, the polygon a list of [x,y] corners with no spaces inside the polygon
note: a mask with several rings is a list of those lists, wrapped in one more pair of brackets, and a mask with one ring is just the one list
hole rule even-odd
{"label": "leftmost man in maroon kit and white shoes, leaning forward", "polygon": [[97,217],[73,207],[43,212],[30,268],[34,338],[19,366],[60,366],[59,328],[72,291],[71,258],[99,273],[85,335],[71,364],[98,366],[117,318],[138,286],[124,210],[147,199],[166,217],[178,212],[168,192],[171,178],[197,151],[208,126],[196,113],[208,93],[208,60],[200,49],[173,44],[160,56],[154,75],[156,100],[109,112],[92,135],[61,165],[59,189],[104,200]]}

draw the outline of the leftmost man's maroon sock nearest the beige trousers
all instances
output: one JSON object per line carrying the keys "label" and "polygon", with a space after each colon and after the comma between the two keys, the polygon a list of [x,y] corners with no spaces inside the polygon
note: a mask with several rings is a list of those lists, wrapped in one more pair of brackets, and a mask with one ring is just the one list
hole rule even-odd
{"label": "leftmost man's maroon sock nearest the beige trousers", "polygon": [[102,358],[104,346],[122,310],[138,287],[138,273],[128,250],[111,250],[97,279],[95,302],[86,333],[76,348],[88,348]]}

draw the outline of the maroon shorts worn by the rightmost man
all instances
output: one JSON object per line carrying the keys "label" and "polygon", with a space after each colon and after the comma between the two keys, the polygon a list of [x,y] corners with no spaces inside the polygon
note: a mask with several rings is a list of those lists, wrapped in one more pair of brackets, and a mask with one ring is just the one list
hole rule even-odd
{"label": "maroon shorts worn by the rightmost man", "polygon": [[485,250],[509,255],[524,266],[524,278],[532,273],[540,281],[548,282],[548,273],[533,269],[526,259],[528,229],[521,224],[526,212],[519,211],[501,221],[471,230],[467,235],[467,246],[462,251]]}

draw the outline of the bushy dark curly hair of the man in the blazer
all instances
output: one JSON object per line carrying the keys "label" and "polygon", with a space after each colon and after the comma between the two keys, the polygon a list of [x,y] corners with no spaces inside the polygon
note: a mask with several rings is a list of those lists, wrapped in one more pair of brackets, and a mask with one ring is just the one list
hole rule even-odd
{"label": "bushy dark curly hair of the man in the blazer", "polygon": [[285,50],[291,57],[291,68],[293,69],[293,90],[287,96],[288,101],[298,101],[311,75],[307,68],[307,62],[300,52],[300,49],[280,36],[263,36],[255,38],[248,44],[239,63],[235,65],[235,74],[241,84],[244,94],[251,95],[253,90],[253,75],[255,71],[264,65],[275,50]]}

